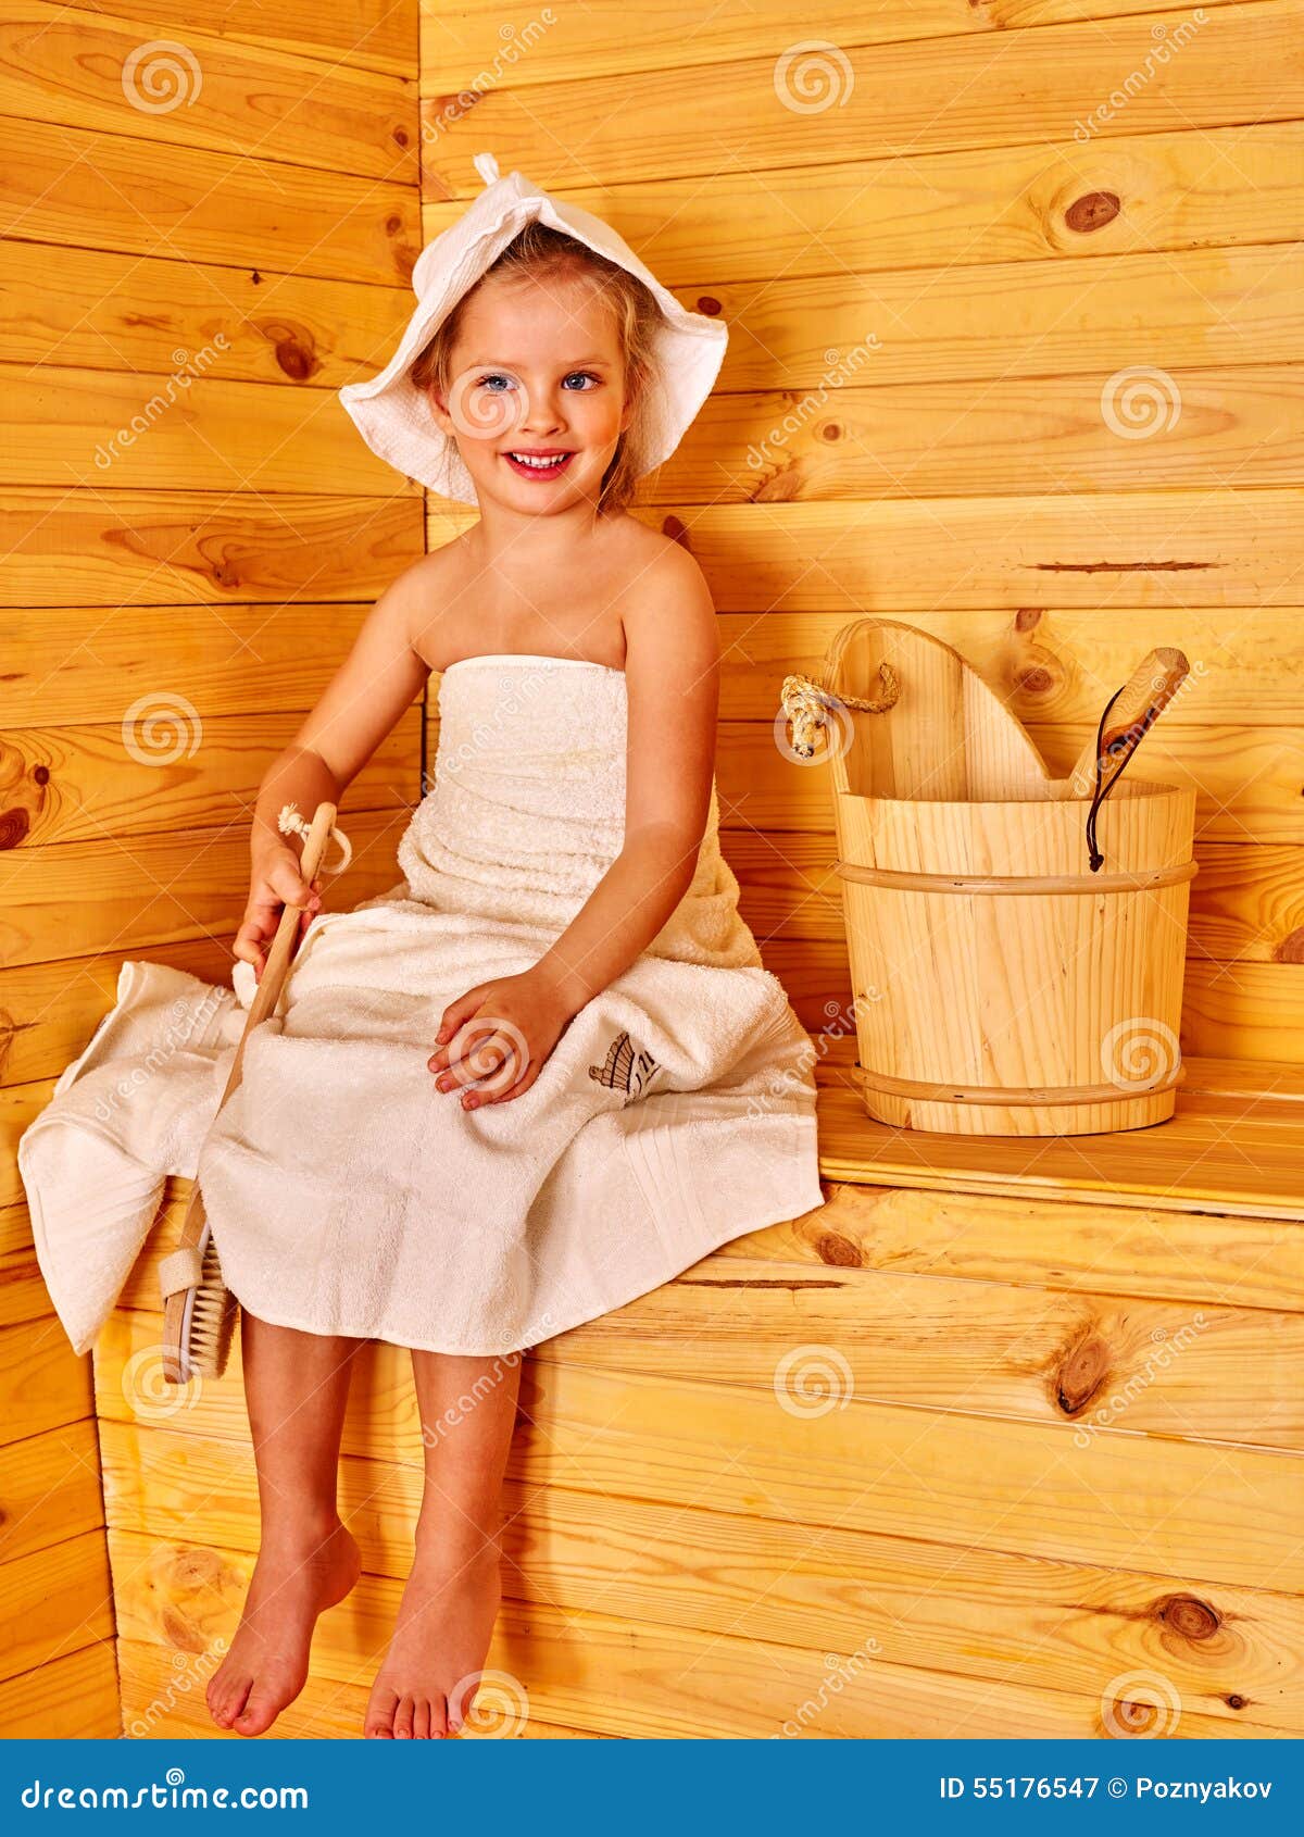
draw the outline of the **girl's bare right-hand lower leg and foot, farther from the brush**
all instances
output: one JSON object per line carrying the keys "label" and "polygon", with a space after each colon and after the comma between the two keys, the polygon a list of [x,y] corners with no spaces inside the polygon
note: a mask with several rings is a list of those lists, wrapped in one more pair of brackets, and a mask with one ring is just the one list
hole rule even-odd
{"label": "girl's bare right-hand lower leg and foot, farther from the brush", "polygon": [[494,1631],[501,1484],[516,1422],[520,1354],[411,1354],[426,1486],[417,1549],[389,1651],[367,1703],[367,1736],[443,1736],[465,1719]]}

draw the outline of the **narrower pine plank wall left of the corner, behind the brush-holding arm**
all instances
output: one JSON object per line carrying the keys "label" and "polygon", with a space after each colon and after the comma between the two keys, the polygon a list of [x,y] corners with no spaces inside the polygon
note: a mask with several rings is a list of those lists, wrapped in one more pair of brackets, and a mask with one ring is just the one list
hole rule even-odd
{"label": "narrower pine plank wall left of the corner, behind the brush-holding arm", "polygon": [[[121,1727],[90,1361],[13,1146],[125,957],[228,977],[257,781],[422,547],[334,399],[410,310],[415,79],[415,0],[0,0],[6,1736]],[[419,761],[413,707],[347,799],[360,898]]]}

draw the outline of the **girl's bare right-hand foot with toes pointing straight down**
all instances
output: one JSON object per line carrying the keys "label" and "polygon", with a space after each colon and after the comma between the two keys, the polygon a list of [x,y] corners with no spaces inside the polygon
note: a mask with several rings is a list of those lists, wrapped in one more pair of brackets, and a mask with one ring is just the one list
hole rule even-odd
{"label": "girl's bare right-hand foot with toes pointing straight down", "polygon": [[476,1696],[501,1602],[498,1543],[470,1550],[417,1545],[393,1639],[371,1686],[364,1736],[439,1740],[457,1734]]}

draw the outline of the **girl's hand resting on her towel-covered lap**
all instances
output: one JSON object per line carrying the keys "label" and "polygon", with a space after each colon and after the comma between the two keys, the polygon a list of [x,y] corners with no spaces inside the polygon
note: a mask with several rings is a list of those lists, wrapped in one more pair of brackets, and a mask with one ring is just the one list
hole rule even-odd
{"label": "girl's hand resting on her towel-covered lap", "polygon": [[435,1084],[461,1089],[463,1110],[523,1097],[569,1020],[556,988],[536,970],[478,983],[444,1009],[435,1038],[446,1043],[428,1060]]}

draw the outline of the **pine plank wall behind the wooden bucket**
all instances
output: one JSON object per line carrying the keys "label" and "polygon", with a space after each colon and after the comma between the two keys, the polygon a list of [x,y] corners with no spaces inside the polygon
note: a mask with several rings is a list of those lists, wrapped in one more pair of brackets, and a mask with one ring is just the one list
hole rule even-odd
{"label": "pine plank wall behind the wooden bucket", "polygon": [[424,6],[426,233],[492,149],[731,327],[645,514],[724,615],[725,852],[808,1025],[850,996],[828,786],[771,720],[874,612],[1058,772],[1186,650],[1146,740],[1199,797],[1183,1043],[1304,1060],[1302,59],[1300,0]]}

